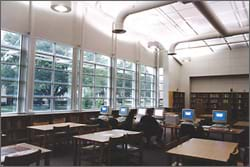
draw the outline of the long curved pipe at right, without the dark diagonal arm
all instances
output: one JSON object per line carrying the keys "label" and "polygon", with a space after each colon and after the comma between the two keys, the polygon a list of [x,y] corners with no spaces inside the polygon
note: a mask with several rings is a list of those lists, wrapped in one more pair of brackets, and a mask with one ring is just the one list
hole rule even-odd
{"label": "long curved pipe at right, without the dark diagonal arm", "polygon": [[175,48],[178,44],[184,43],[184,42],[193,42],[193,41],[200,41],[200,40],[206,40],[206,39],[213,39],[213,38],[222,38],[222,37],[228,37],[228,36],[233,36],[233,35],[240,35],[240,34],[245,34],[249,33],[249,27],[244,27],[240,29],[235,29],[230,32],[227,32],[226,35],[221,35],[219,33],[209,33],[209,34],[204,34],[204,35],[197,35],[192,38],[187,38],[178,42],[175,42],[170,45],[169,50],[168,50],[168,55],[175,55]]}

